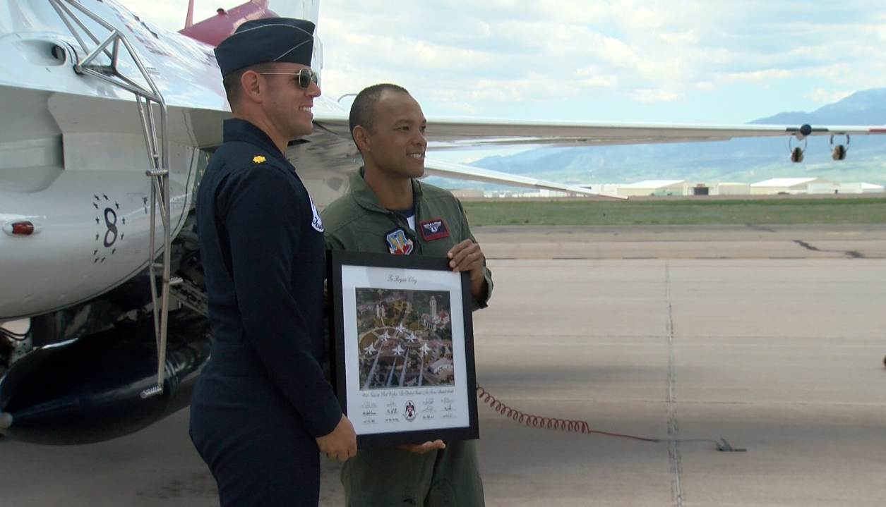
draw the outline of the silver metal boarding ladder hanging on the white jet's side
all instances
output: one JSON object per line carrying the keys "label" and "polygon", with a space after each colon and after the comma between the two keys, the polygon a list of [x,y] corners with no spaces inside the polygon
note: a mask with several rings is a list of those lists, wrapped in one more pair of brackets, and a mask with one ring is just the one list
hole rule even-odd
{"label": "silver metal boarding ladder hanging on the white jet's side", "polygon": [[[169,318],[169,287],[182,283],[179,277],[170,278],[170,230],[169,207],[169,139],[167,134],[167,105],[160,95],[159,88],[154,84],[136,51],[120,30],[89,11],[75,0],[49,0],[58,16],[77,39],[85,53],[74,63],[74,72],[82,76],[90,76],[112,83],[136,96],[138,114],[142,120],[144,143],[150,158],[149,169],[145,172],[151,180],[151,233],[148,250],[148,270],[151,273],[151,298],[154,313],[154,335],[157,341],[157,385],[142,391],[141,396],[148,398],[163,393],[163,382],[166,380],[167,327]],[[96,23],[107,31],[104,39],[99,39],[87,26],[89,21]],[[91,42],[89,42],[91,41]],[[129,58],[138,67],[146,87],[134,79],[120,73],[120,50],[125,50]],[[101,58],[104,56],[105,58]],[[107,61],[105,65],[99,59]],[[159,111],[159,122],[154,110]],[[157,256],[156,223],[159,213],[163,228],[162,260]],[[161,276],[158,289],[157,278]]]}

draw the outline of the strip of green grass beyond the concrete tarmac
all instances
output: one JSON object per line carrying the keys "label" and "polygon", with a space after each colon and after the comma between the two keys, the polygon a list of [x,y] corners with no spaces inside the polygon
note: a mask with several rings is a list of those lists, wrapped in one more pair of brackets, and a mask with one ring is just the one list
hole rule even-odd
{"label": "strip of green grass beyond the concrete tarmac", "polygon": [[465,201],[473,226],[879,224],[886,197]]}

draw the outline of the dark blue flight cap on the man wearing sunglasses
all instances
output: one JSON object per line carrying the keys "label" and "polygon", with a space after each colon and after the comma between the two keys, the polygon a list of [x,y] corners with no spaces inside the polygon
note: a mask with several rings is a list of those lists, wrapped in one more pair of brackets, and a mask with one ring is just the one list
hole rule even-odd
{"label": "dark blue flight cap on the man wearing sunglasses", "polygon": [[314,28],[314,23],[304,19],[246,21],[215,48],[221,75],[268,62],[310,66],[314,54]]}

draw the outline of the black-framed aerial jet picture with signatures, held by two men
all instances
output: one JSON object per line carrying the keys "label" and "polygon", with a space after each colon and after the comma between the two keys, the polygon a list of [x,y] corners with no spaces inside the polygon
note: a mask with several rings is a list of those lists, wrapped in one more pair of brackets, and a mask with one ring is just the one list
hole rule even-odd
{"label": "black-framed aerial jet picture with signatures, held by two men", "polygon": [[468,273],[332,250],[330,359],[360,449],[479,437]]}

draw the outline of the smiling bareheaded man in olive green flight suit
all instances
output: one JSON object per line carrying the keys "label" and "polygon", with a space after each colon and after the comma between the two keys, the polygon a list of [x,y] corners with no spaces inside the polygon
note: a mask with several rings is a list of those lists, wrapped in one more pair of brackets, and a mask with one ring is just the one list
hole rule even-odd
{"label": "smiling bareheaded man in olive green flight suit", "polygon": [[[421,106],[405,88],[378,84],[354,99],[349,123],[364,165],[323,211],[326,248],[448,257],[453,271],[470,273],[473,309],[485,308],[493,280],[462,204],[416,180],[427,149]],[[473,441],[358,449],[341,481],[348,507],[484,505]]]}

